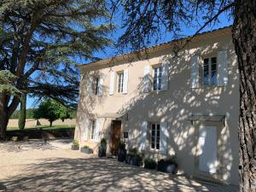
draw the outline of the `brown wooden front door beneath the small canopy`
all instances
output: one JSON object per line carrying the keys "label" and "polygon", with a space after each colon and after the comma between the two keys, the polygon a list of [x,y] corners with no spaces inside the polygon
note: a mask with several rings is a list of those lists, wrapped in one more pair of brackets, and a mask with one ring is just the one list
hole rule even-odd
{"label": "brown wooden front door beneath the small canopy", "polygon": [[122,121],[113,120],[112,121],[112,131],[111,131],[111,153],[116,155],[119,150],[119,141],[121,137],[121,125]]}

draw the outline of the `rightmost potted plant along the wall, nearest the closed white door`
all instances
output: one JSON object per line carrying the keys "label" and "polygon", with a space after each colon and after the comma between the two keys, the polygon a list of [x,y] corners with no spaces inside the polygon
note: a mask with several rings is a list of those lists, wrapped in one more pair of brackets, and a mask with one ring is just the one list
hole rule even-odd
{"label": "rightmost potted plant along the wall, nearest the closed white door", "polygon": [[172,155],[170,158],[168,158],[166,160],[158,161],[157,171],[176,173],[177,172],[177,157],[176,157],[176,155]]}

